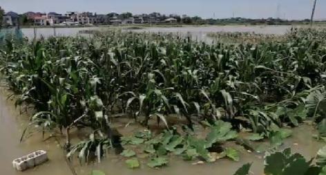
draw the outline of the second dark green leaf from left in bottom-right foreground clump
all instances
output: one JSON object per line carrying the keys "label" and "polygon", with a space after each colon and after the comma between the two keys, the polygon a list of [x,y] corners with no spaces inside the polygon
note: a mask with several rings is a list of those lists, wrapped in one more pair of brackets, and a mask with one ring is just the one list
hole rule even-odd
{"label": "second dark green leaf from left in bottom-right foreground clump", "polygon": [[265,159],[265,169],[264,172],[267,175],[282,174],[282,169],[285,167],[284,160],[286,159],[285,155],[277,152],[267,156]]}

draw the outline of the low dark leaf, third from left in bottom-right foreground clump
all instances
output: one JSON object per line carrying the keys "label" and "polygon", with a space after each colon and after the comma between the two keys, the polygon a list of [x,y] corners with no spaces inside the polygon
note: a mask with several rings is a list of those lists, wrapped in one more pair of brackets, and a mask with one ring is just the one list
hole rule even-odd
{"label": "low dark leaf, third from left in bottom-right foreground clump", "polygon": [[308,169],[309,163],[306,163],[305,158],[298,158],[285,167],[283,175],[304,175]]}

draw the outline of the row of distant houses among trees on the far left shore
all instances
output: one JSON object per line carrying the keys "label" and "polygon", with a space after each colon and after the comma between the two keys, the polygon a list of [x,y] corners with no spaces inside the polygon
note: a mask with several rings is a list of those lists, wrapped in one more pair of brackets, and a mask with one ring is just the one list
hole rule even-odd
{"label": "row of distant houses among trees on the far left shore", "polygon": [[78,26],[78,25],[119,25],[119,24],[176,24],[181,18],[178,15],[161,15],[153,12],[151,14],[132,15],[130,12],[117,14],[115,12],[107,15],[97,15],[93,12],[66,12],[62,15],[57,12],[26,12],[21,15],[16,12],[6,12],[3,15],[3,24],[6,26],[17,26],[23,21],[33,26]]}

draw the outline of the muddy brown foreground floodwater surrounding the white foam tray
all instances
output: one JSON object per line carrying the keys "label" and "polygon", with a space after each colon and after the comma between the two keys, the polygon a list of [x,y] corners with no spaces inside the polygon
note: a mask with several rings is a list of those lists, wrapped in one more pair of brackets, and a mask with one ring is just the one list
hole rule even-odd
{"label": "muddy brown foreground floodwater surrounding the white foam tray", "polygon": [[[28,123],[28,116],[30,114],[20,114],[19,107],[15,108],[15,102],[13,100],[8,100],[8,91],[4,88],[0,89],[0,174],[6,175],[68,175],[72,174],[66,161],[64,159],[64,154],[60,148],[59,143],[50,138],[45,140],[42,138],[41,133],[34,133],[28,139],[24,140],[22,143],[19,142],[21,133]],[[119,125],[124,129],[125,125],[122,123]],[[137,128],[131,126],[124,129],[122,132],[132,133],[133,130]],[[302,125],[294,129],[293,136],[285,141],[282,145],[282,149],[286,147],[291,147],[293,152],[298,152],[311,158],[316,155],[318,149],[325,145],[323,142],[318,142],[312,138],[312,135],[316,133],[313,127],[309,125]],[[78,137],[78,134],[75,134]],[[263,154],[253,154],[245,151],[241,147],[235,147],[240,151],[240,161],[234,162],[228,159],[217,160],[215,163],[206,163],[204,165],[191,165],[195,161],[184,161],[182,158],[171,156],[169,159],[169,165],[163,167],[162,169],[151,169],[146,167],[144,160],[140,158],[142,162],[142,167],[140,169],[131,170],[128,169],[124,163],[121,156],[115,156],[110,154],[110,156],[104,158],[102,163],[90,163],[89,165],[79,165],[75,161],[75,171],[77,174],[87,174],[89,175],[92,169],[99,169],[106,174],[188,174],[188,175],[198,175],[198,174],[233,174],[236,172],[238,167],[245,163],[253,163],[251,172],[253,174],[263,174]],[[39,165],[34,169],[29,169],[26,172],[16,172],[12,168],[12,160],[14,158],[24,156],[31,151],[38,149],[44,149],[48,151],[48,158],[50,159],[47,163]]]}

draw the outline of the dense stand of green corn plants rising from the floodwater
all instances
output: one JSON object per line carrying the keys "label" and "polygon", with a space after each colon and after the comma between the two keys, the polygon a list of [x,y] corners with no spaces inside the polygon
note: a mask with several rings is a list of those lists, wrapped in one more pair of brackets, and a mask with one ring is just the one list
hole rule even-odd
{"label": "dense stand of green corn plants rising from the floodwater", "polygon": [[[307,118],[323,120],[325,33],[302,29],[280,41],[209,45],[173,35],[111,31],[92,38],[8,41],[0,64],[8,86],[19,95],[16,104],[36,110],[30,125],[64,131],[66,149],[83,160],[88,150],[100,157],[105,147],[121,148],[110,127],[119,116],[144,126],[156,119],[166,129],[172,127],[171,114],[185,118],[190,130],[198,122],[223,121],[227,129],[257,133],[251,140],[270,138],[277,145],[289,136],[282,127],[296,127]],[[70,145],[70,130],[82,127],[91,130],[89,140]],[[184,157],[208,155],[213,144],[229,140],[216,140],[229,136],[217,131],[210,136],[189,143]],[[180,146],[175,144],[164,150]],[[150,146],[148,151],[159,150]],[[157,162],[166,164],[153,158],[150,165]]]}

